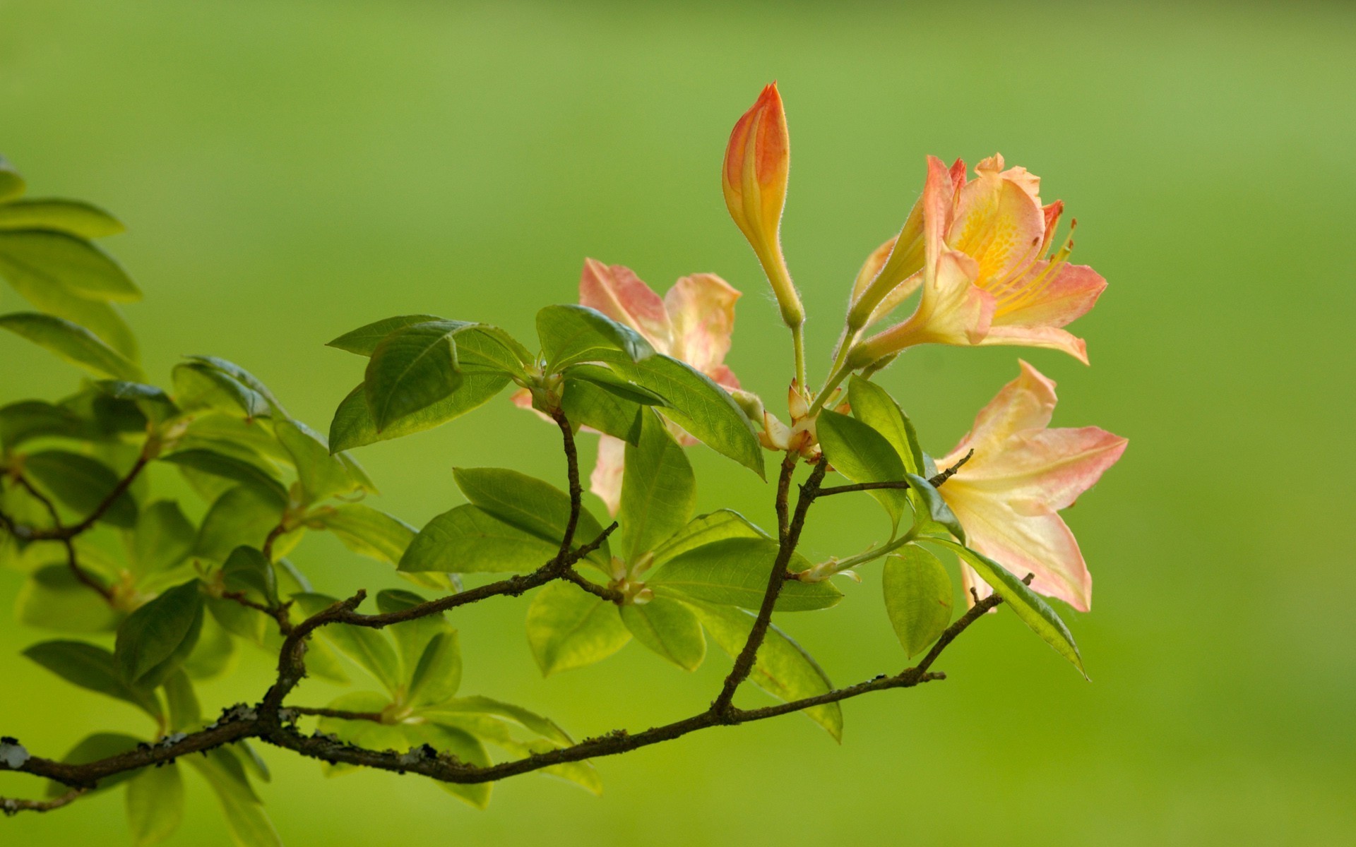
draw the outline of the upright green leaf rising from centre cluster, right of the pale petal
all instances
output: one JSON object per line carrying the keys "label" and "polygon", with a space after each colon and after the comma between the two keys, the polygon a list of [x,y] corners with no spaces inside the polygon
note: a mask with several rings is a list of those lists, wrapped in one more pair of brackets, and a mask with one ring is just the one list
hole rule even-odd
{"label": "upright green leaf rising from centre cluster, right of the pale petal", "polygon": [[636,562],[677,533],[697,504],[697,477],[669,428],[651,412],[643,417],[640,443],[626,445],[622,472],[620,556]]}

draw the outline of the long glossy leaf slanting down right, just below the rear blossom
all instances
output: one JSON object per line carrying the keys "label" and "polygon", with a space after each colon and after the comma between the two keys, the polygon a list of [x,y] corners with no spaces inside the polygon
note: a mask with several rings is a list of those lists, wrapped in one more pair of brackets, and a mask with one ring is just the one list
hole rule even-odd
{"label": "long glossy leaf slanting down right, just below the rear blossom", "polygon": [[654,355],[640,362],[616,358],[612,369],[664,400],[663,413],[693,438],[763,477],[758,435],[739,404],[686,362]]}

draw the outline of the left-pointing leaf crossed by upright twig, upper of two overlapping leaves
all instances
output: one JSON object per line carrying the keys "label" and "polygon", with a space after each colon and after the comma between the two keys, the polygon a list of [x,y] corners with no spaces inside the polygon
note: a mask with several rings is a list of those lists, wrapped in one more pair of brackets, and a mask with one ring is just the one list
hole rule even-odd
{"label": "left-pointing leaf crossed by upright twig, upper of two overlapping leaves", "polygon": [[[570,520],[570,495],[549,482],[503,468],[453,468],[452,474],[472,505],[559,548]],[[580,508],[571,546],[583,546],[599,535],[602,526],[598,519],[587,508]],[[586,558],[606,572],[612,562],[607,542],[603,541]]]}

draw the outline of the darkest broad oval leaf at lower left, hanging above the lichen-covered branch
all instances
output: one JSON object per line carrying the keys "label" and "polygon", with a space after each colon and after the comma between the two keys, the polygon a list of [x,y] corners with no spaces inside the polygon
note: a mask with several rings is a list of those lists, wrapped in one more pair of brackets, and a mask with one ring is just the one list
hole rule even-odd
{"label": "darkest broad oval leaf at lower left, hanging above the lichen-covered branch", "polygon": [[113,649],[123,682],[159,686],[193,652],[202,632],[202,591],[193,579],[127,615]]}

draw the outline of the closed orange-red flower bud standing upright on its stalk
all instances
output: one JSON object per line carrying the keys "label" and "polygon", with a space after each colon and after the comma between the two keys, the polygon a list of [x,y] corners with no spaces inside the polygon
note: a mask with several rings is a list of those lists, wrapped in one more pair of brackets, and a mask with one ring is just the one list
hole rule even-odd
{"label": "closed orange-red flower bud standing upright on its stalk", "polygon": [[804,323],[805,310],[781,253],[781,211],[786,205],[789,167],[786,112],[777,83],[773,83],[762,89],[730,133],[720,176],[730,217],[762,263],[781,306],[782,321],[795,329]]}

